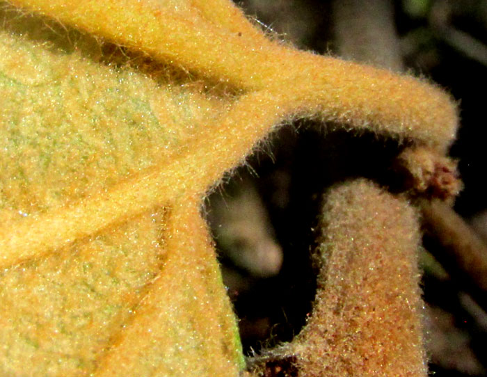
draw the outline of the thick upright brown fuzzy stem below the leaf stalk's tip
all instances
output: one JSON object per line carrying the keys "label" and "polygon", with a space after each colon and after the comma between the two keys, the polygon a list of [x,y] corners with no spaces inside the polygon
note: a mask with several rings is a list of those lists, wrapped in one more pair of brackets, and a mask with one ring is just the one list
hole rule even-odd
{"label": "thick upright brown fuzzy stem below the leaf stalk's tip", "polygon": [[326,195],[312,316],[292,350],[300,376],[426,376],[413,209],[359,180]]}

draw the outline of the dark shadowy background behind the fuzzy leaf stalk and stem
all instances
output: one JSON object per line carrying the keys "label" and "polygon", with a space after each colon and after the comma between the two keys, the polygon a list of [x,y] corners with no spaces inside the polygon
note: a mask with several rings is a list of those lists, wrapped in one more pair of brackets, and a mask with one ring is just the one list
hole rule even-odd
{"label": "dark shadowy background behind the fuzzy leaf stalk and stem", "polygon": [[[331,1],[238,4],[275,38],[319,54],[337,54]],[[405,69],[435,81],[458,100],[461,128],[451,155],[459,161],[465,186],[455,209],[466,221],[474,221],[479,234],[487,234],[487,216],[481,217],[487,208],[487,1],[392,1],[391,9]],[[250,157],[255,173],[242,168],[235,175],[237,185],[242,176],[255,182],[284,253],[282,269],[275,277],[260,279],[237,268],[246,288],[230,287],[248,355],[292,339],[310,313],[315,271],[309,252],[314,248],[315,219],[326,187],[355,176],[390,184],[394,179],[390,161],[398,148],[393,141],[353,134],[340,125],[301,120],[280,129],[264,152]],[[436,249],[434,255],[441,252],[427,236],[424,244]],[[224,250],[221,259],[227,264]],[[424,323],[431,371],[436,376],[483,376],[486,312],[461,279],[452,278],[431,254],[424,252],[420,260],[425,271]],[[228,265],[232,268],[231,262]]]}

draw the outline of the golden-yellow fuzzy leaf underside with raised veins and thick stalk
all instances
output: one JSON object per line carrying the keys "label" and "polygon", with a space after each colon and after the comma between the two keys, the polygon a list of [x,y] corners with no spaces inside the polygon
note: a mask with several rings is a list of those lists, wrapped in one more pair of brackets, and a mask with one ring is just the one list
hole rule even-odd
{"label": "golden-yellow fuzzy leaf underside with raised veins and thick stalk", "polygon": [[0,3],[0,376],[237,376],[199,206],[282,122],[445,153],[407,76],[266,38],[226,0]]}

